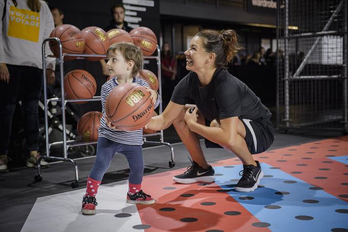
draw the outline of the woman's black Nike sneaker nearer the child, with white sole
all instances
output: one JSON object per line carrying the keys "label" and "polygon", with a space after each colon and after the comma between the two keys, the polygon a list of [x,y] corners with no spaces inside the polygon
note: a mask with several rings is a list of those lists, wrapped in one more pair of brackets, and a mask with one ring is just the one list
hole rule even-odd
{"label": "woman's black Nike sneaker nearer the child, with white sole", "polygon": [[209,165],[208,169],[199,166],[198,163],[191,161],[192,166],[187,167],[187,171],[178,176],[173,176],[173,181],[182,184],[191,184],[195,182],[214,182],[214,170]]}

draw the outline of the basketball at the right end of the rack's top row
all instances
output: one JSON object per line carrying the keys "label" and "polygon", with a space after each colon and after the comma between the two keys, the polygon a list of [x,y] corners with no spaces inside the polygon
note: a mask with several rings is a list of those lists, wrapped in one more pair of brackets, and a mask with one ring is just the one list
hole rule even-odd
{"label": "basketball at the right end of the rack's top row", "polygon": [[155,33],[147,27],[138,27],[129,32],[133,43],[140,47],[145,56],[152,55],[156,50],[157,38]]}

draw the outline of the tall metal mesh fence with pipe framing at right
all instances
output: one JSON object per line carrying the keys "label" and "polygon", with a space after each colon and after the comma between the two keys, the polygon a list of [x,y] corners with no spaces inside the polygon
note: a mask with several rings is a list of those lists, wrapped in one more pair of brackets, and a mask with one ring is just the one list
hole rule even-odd
{"label": "tall metal mesh fence with pipe framing at right", "polygon": [[348,131],[347,1],[277,1],[279,129]]}

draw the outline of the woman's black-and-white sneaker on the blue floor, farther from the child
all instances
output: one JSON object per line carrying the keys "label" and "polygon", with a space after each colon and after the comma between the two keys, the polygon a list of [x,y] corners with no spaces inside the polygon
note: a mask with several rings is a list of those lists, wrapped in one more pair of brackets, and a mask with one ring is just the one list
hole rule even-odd
{"label": "woman's black-and-white sneaker on the blue floor, farther from the child", "polygon": [[254,165],[243,165],[243,171],[240,172],[242,178],[238,181],[235,186],[237,192],[252,192],[257,188],[260,183],[260,179],[264,177],[264,173],[261,170],[260,163],[256,161],[257,166]]}

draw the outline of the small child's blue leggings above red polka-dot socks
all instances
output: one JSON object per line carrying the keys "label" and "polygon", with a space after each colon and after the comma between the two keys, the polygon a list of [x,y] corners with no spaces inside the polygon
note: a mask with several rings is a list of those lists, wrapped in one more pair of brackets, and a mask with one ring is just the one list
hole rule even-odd
{"label": "small child's blue leggings above red polka-dot socks", "polygon": [[90,177],[101,181],[115,153],[123,154],[128,160],[130,169],[129,183],[140,184],[144,174],[144,159],[141,145],[127,145],[103,137],[98,138],[97,157]]}

